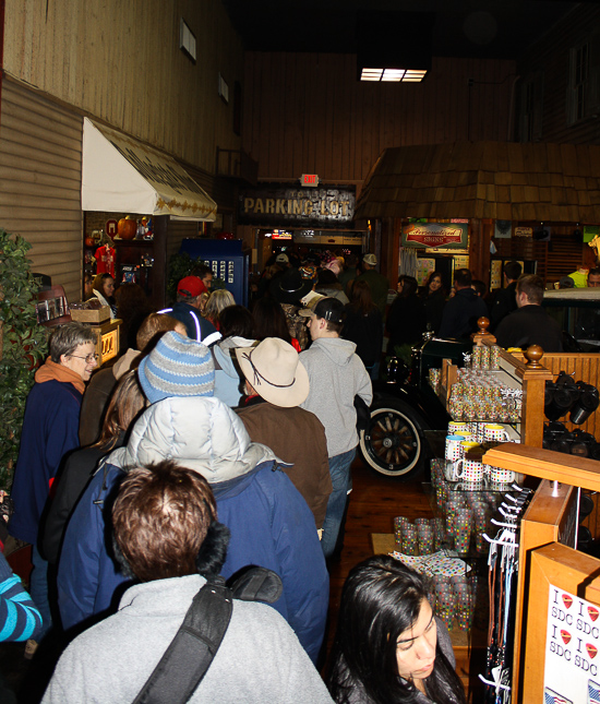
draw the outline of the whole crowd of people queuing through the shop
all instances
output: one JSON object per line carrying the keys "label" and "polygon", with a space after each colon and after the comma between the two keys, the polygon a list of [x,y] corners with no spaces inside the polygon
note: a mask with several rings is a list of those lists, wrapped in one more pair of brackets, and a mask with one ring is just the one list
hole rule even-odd
{"label": "whole crowd of people queuing through the shop", "polygon": [[[53,332],[11,492],[10,532],[33,546],[32,600],[10,627],[4,617],[0,637],[29,639],[31,652],[50,630],[72,640],[45,701],[129,702],[159,687],[157,672],[175,666],[158,664],[181,645],[183,621],[213,613],[196,598],[205,584],[211,599],[224,590],[214,613],[225,601],[229,616],[215,617],[224,632],[181,701],[465,701],[421,578],[381,556],[348,577],[326,685],[315,669],[351,490],[357,398],[372,402],[385,332],[387,353],[403,355],[428,329],[466,338],[481,315],[507,347],[561,349],[561,331],[540,306],[541,279],[514,262],[490,308],[459,270],[449,298],[439,272],[421,289],[401,276],[387,315],[389,286],[376,266],[371,253],[360,263],[280,253],[253,282],[250,309],[211,291],[205,266],[161,311],[135,285],[89,283],[91,296],[124,313],[122,354],[92,377],[89,327]],[[240,600],[232,581],[248,573],[255,584],[256,565],[275,586]]]}

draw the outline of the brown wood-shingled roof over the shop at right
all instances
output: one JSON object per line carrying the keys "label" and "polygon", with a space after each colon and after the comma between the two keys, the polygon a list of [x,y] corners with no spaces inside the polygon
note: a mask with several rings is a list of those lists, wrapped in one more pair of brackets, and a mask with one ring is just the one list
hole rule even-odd
{"label": "brown wood-shingled roof over the shop at right", "polygon": [[385,150],[358,218],[600,223],[600,146],[455,142]]}

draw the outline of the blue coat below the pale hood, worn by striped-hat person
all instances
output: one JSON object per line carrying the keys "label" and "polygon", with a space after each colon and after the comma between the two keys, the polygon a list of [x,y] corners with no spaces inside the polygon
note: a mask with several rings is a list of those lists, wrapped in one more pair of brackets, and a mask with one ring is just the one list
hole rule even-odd
{"label": "blue coat below the pale hood, worn by striped-hat person", "polygon": [[[127,578],[106,549],[104,501],[123,476],[115,465],[100,466],[69,522],[58,573],[65,629],[117,606],[115,590]],[[231,530],[221,574],[227,578],[249,564],[277,572],[284,593],[273,606],[315,661],[325,631],[329,583],[307,502],[272,461],[211,487],[218,520]]]}

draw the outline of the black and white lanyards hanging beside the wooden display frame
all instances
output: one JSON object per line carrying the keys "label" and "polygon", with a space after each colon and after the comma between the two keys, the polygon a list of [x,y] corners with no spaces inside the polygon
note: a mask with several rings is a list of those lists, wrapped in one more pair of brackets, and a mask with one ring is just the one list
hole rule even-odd
{"label": "black and white lanyards hanging beside the wooden display frame", "polygon": [[533,492],[513,485],[514,492],[504,497],[499,506],[500,520],[494,538],[483,535],[490,544],[488,557],[490,588],[490,625],[485,676],[479,679],[485,687],[485,704],[512,704],[513,643],[518,576],[518,542],[520,520]]}

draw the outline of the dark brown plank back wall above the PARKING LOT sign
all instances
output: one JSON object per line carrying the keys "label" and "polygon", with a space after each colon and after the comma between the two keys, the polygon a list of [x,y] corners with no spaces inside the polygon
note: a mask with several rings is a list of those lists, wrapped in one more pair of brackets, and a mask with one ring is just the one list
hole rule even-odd
{"label": "dark brown plank back wall above the PARKING LOT sign", "polygon": [[388,146],[507,140],[514,80],[512,61],[436,58],[422,84],[360,83],[353,55],[248,52],[243,144],[260,178],[360,184]]}

